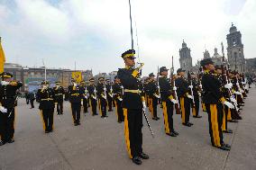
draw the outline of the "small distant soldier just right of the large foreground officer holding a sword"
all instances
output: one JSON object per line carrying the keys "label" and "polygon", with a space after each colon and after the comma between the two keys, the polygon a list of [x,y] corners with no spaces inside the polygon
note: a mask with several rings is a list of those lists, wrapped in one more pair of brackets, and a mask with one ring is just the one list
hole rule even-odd
{"label": "small distant soldier just right of the large foreground officer holding a sword", "polygon": [[148,95],[149,95],[149,101],[150,101],[150,112],[151,112],[151,117],[152,120],[158,121],[160,118],[158,117],[158,100],[160,98],[160,94],[158,92],[158,86],[156,85],[155,79],[154,79],[154,74],[151,73],[149,75],[149,83],[147,85],[148,87]]}

